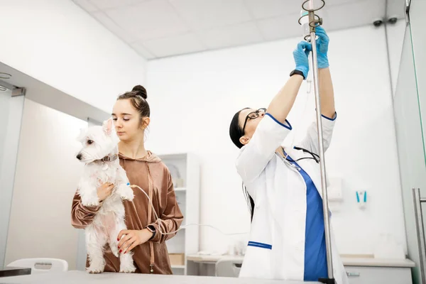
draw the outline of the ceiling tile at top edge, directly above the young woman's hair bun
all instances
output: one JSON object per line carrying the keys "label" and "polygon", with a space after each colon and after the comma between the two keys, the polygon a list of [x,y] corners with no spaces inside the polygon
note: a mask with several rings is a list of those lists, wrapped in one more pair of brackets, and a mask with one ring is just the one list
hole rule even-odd
{"label": "ceiling tile at top edge, directly above the young woman's hair bun", "polygon": [[105,11],[121,28],[140,40],[185,33],[187,26],[168,1],[148,1]]}

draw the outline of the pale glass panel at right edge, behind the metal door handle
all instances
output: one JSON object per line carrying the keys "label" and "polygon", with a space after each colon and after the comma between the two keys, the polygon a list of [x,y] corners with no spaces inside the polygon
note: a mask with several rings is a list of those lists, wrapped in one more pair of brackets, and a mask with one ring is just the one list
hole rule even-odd
{"label": "pale glass panel at right edge, behind the metal door handle", "polygon": [[[405,29],[403,52],[400,60],[398,84],[395,89],[394,114],[400,178],[403,195],[405,230],[407,234],[408,257],[415,261],[413,283],[419,283],[419,252],[415,215],[413,207],[413,187],[423,189],[426,197],[426,164],[424,137],[422,135],[422,117],[417,92],[416,73],[413,60],[410,26]],[[424,124],[424,123],[423,123]],[[425,218],[425,217],[424,217]]]}

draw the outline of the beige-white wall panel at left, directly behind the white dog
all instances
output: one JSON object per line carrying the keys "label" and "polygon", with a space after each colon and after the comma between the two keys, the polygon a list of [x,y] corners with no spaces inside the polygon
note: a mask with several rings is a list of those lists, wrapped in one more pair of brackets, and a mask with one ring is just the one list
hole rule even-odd
{"label": "beige-white wall panel at left, directly behind the white dog", "polygon": [[77,229],[72,197],[82,169],[76,141],[87,122],[26,99],[6,246],[7,265],[50,257],[75,269]]}

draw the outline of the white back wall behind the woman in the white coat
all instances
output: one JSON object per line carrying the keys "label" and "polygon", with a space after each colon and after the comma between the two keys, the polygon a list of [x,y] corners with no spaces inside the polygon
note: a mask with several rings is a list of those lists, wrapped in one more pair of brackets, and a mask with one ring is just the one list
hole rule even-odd
{"label": "white back wall behind the woman in the white coat", "polygon": [[[384,28],[366,26],[329,36],[339,118],[326,161],[329,177],[343,178],[344,202],[334,212],[340,253],[373,253],[379,234],[392,234],[405,248]],[[268,106],[294,68],[292,51],[299,40],[148,62],[148,148],[156,153],[191,151],[201,158],[202,224],[229,233],[249,231],[229,123],[242,107]],[[303,114],[305,94],[304,84],[289,116],[297,136],[304,132],[302,116],[315,109],[312,94]],[[368,192],[364,211],[356,207],[356,190]],[[203,250],[223,251],[226,241],[238,239],[206,227],[201,231]]]}

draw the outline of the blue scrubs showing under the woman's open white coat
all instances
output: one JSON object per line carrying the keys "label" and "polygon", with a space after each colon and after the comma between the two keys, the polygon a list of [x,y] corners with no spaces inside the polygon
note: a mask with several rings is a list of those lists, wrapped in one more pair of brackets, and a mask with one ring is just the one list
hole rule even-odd
{"label": "blue scrubs showing under the woman's open white coat", "polygon": [[317,281],[318,278],[328,277],[322,198],[305,170],[287,153],[285,155],[288,161],[297,167],[306,183],[305,273],[303,280]]}

